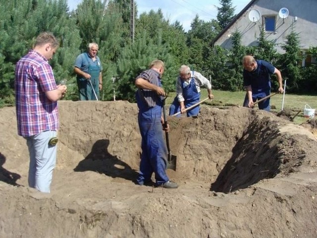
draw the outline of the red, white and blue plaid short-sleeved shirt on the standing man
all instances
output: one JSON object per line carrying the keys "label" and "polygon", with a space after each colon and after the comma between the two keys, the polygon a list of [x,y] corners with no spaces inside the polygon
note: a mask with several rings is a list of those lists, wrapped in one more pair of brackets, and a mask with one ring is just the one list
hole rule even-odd
{"label": "red, white and blue plaid short-sleeved shirt on the standing man", "polygon": [[48,60],[30,51],[16,64],[14,86],[18,134],[32,136],[45,130],[57,130],[57,102],[45,94],[57,88]]}

